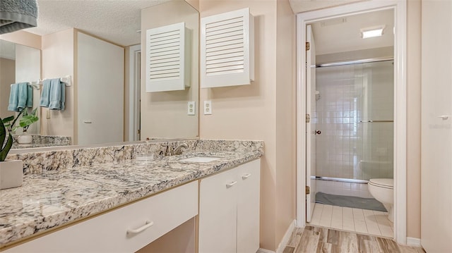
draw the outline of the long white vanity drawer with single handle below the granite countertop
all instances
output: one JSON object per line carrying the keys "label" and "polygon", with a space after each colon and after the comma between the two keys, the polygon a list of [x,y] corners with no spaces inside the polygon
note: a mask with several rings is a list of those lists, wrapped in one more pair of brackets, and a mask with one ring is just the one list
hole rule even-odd
{"label": "long white vanity drawer with single handle below the granite countertop", "polygon": [[6,252],[136,252],[197,214],[198,181],[194,181]]}

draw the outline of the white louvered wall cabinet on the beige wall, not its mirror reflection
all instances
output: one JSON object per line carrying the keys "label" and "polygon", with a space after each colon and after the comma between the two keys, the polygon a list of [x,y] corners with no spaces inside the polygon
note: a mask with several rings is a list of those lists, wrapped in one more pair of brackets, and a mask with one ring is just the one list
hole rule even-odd
{"label": "white louvered wall cabinet on the beige wall, not its mirror reflection", "polygon": [[254,17],[249,8],[201,18],[201,88],[254,80]]}

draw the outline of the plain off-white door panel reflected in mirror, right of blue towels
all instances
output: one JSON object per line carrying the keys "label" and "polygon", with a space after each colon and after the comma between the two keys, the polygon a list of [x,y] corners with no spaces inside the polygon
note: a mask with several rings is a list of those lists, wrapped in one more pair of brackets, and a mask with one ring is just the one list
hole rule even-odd
{"label": "plain off-white door panel reflected in mirror, right of blue towels", "polygon": [[124,47],[78,32],[78,142],[124,141]]}

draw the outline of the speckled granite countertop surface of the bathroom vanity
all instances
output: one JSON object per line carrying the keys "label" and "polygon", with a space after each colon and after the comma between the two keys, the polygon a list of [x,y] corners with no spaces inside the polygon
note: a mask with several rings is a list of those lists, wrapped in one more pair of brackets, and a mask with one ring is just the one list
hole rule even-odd
{"label": "speckled granite countertop surface of the bathroom vanity", "polygon": [[[218,156],[207,163],[178,161]],[[191,152],[24,175],[23,186],[0,191],[0,248],[227,168],[263,152]]]}

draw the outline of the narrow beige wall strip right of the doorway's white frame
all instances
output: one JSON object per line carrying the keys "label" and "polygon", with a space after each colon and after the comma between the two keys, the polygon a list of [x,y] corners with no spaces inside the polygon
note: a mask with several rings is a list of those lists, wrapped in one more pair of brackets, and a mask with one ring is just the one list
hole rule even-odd
{"label": "narrow beige wall strip right of the doorway's white frame", "polygon": [[421,237],[421,1],[408,1],[407,236]]}

